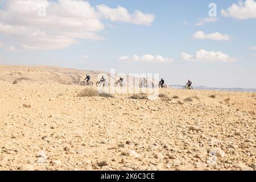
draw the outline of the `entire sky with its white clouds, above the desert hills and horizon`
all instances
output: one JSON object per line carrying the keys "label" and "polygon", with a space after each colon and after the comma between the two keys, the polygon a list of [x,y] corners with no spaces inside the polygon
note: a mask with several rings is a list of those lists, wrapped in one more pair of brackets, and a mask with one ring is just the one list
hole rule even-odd
{"label": "entire sky with its white clouds, above the desert hills and horizon", "polygon": [[255,32],[254,0],[1,0],[0,64],[256,88]]}

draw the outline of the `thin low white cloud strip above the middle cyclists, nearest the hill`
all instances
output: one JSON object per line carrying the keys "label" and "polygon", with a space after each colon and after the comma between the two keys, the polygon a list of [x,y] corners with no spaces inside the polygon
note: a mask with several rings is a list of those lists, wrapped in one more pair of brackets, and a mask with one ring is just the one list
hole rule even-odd
{"label": "thin low white cloud strip above the middle cyclists, nearest the hill", "polygon": [[118,58],[120,61],[144,61],[144,62],[151,62],[151,63],[172,63],[172,59],[169,57],[163,57],[161,55],[153,56],[153,55],[144,55],[138,56],[134,55],[132,57],[129,56],[121,56]]}

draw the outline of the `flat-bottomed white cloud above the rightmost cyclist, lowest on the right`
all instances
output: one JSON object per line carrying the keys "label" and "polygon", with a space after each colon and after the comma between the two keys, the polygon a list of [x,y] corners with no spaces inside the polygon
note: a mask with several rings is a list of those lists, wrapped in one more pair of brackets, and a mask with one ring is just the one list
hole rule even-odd
{"label": "flat-bottomed white cloud above the rightmost cyclist, lowest on the right", "polygon": [[181,60],[187,61],[212,61],[212,62],[234,62],[237,59],[234,57],[230,57],[222,52],[214,52],[214,51],[205,51],[201,49],[197,51],[195,55],[190,55],[188,53],[183,52],[181,54]]}

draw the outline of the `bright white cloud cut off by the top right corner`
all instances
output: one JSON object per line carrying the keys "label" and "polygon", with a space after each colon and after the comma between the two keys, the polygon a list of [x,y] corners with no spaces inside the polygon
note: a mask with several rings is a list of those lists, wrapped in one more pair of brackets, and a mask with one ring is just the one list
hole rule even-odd
{"label": "bright white cloud cut off by the top right corner", "polygon": [[221,14],[226,17],[232,17],[240,20],[256,18],[256,1],[246,0],[233,3],[227,10],[221,10]]}

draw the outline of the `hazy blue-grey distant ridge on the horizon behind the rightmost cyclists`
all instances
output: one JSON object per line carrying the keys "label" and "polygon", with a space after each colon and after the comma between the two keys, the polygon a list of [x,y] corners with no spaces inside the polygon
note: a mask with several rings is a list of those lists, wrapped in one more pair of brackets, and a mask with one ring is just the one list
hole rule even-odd
{"label": "hazy blue-grey distant ridge on the horizon behind the rightmost cyclists", "polygon": [[[182,89],[183,85],[169,85],[173,89]],[[256,92],[256,89],[251,88],[217,88],[208,86],[193,86],[195,90],[216,90],[216,91],[233,91],[233,92]]]}

